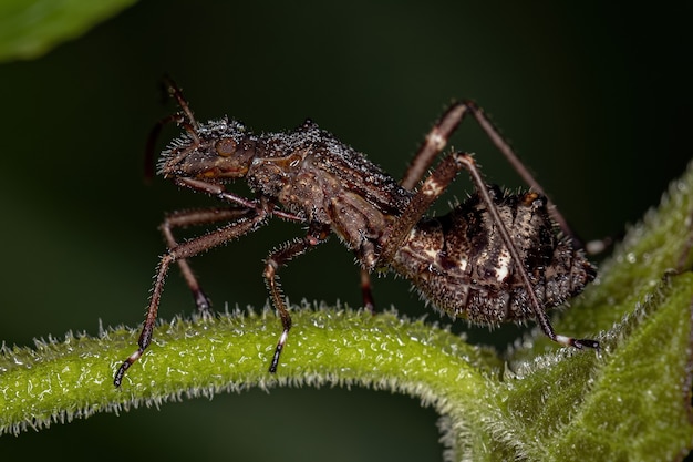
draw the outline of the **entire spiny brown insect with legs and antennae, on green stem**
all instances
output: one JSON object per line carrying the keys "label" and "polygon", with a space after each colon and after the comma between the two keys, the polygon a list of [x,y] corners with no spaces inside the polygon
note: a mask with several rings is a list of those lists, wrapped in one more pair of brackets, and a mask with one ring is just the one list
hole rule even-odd
{"label": "entire spiny brown insect with legs and antennae, on green stem", "polygon": [[[226,117],[199,123],[182,91],[170,81],[167,86],[179,111],[159,122],[149,146],[166,123],[175,122],[185,132],[161,154],[158,173],[178,186],[216,197],[223,206],[178,212],[164,220],[168,251],[158,265],[138,348],[117,370],[116,387],[152,342],[170,265],[178,265],[198,309],[208,315],[209,299],[188,259],[252,233],[270,218],[301,224],[307,233],[265,260],[263,277],[282,326],[269,372],[277,371],[291,329],[277,273],[332,234],[355,254],[364,306],[371,309],[369,274],[386,269],[407,278],[439,311],[454,318],[490,326],[534,319],[560,345],[599,349],[596,340],[557,335],[546,314],[579,294],[594,278],[593,266],[539,184],[473,102],[455,103],[444,113],[397,182],[310,120],[290,132],[266,134],[254,134]],[[529,184],[529,192],[508,194],[487,186],[473,156],[462,152],[445,154],[427,174],[468,114]],[[424,217],[463,170],[476,193],[444,216]],[[225,185],[235,179],[244,179],[256,196],[228,192]],[[215,229],[182,243],[173,233],[213,224]]]}

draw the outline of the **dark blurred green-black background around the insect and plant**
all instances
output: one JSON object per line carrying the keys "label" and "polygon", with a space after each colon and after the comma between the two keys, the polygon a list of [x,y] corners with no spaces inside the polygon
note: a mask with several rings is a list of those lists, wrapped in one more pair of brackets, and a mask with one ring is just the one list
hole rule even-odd
{"label": "dark blurred green-black background around the insect and plant", "polygon": [[[693,122],[690,2],[622,8],[145,1],[38,60],[0,64],[0,340],[27,346],[68,330],[96,335],[100,320],[143,320],[164,251],[164,213],[211,204],[158,178],[143,182],[147,133],[174,107],[162,103],[164,73],[199,120],[229,114],[277,131],[310,116],[396,177],[444,106],[474,99],[580,235],[619,234],[682,173]],[[174,134],[167,129],[161,144]],[[474,122],[453,145],[476,152],[494,183],[521,185]],[[464,198],[468,182],[457,184]],[[215,307],[262,307],[262,258],[300,233],[275,224],[197,258]],[[287,295],[359,306],[352,260],[333,239],[281,273]],[[375,299],[427,312],[403,280],[376,280]],[[161,316],[193,308],[172,275]],[[475,341],[493,337],[472,332]],[[3,435],[0,454],[439,460],[436,419],[417,401],[383,392],[256,390]]]}

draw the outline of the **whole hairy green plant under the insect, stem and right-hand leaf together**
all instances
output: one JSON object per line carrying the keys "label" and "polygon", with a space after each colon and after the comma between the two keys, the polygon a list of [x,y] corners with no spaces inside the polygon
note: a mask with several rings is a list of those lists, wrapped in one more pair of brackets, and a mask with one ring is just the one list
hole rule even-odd
{"label": "whole hairy green plant under the insect, stem and right-hand leaf together", "polygon": [[[159,405],[251,387],[339,384],[407,393],[442,415],[449,460],[660,461],[693,448],[693,164],[630,229],[599,279],[555,319],[602,350],[535,332],[500,358],[437,325],[340,308],[293,307],[280,369],[267,311],[175,319],[125,376],[138,329],[3,347],[0,430]],[[509,361],[509,362],[506,362]]]}

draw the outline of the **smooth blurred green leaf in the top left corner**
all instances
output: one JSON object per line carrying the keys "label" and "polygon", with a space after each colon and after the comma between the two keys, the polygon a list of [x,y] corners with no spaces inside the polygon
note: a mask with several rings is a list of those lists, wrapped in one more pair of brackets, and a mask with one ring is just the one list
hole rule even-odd
{"label": "smooth blurred green leaf in the top left corner", "polygon": [[133,3],[135,0],[3,0],[0,62],[38,58]]}

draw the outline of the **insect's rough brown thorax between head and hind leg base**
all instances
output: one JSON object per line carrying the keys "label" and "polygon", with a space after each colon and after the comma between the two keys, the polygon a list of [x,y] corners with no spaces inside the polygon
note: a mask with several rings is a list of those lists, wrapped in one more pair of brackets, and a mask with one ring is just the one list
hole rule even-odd
{"label": "insect's rough brown thorax between head and hind leg base", "polygon": [[[307,122],[290,133],[259,137],[247,182],[309,223],[327,225],[365,259],[389,216],[412,197],[362,153]],[[370,257],[365,254],[371,255]]]}

